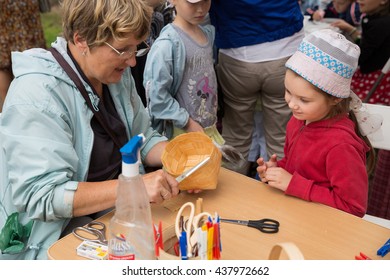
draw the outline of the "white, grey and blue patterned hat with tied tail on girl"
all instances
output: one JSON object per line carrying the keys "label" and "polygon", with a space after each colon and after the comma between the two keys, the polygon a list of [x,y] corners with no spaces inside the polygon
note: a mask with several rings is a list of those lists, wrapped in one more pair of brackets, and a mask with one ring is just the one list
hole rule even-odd
{"label": "white, grey and blue patterned hat with tied tail on girl", "polygon": [[380,128],[383,118],[369,114],[359,97],[351,91],[359,55],[359,46],[345,36],[331,29],[322,29],[302,40],[286,67],[332,96],[351,97],[350,109],[355,113],[361,134],[366,136]]}

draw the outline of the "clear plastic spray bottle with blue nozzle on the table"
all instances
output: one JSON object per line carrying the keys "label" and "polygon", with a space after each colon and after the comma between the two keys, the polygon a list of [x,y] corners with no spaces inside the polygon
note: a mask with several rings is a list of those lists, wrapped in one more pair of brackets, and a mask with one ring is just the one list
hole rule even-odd
{"label": "clear plastic spray bottle with blue nozzle on the table", "polygon": [[122,174],[118,177],[115,214],[110,221],[108,259],[156,259],[149,197],[139,175],[142,134],[133,137],[120,151]]}

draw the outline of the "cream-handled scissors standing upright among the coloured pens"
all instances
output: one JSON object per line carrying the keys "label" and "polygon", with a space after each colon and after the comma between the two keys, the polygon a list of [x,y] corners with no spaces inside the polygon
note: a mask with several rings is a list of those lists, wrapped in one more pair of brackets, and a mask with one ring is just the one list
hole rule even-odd
{"label": "cream-handled scissors standing upright among the coloured pens", "polygon": [[[189,208],[190,214],[188,216],[188,220],[186,222],[182,222],[182,213],[183,211]],[[197,243],[197,237],[195,230],[201,226],[200,222],[204,220],[204,218],[208,219],[211,217],[210,213],[208,212],[201,212],[197,215],[195,215],[195,205],[192,202],[184,203],[180,209],[179,212],[176,215],[176,221],[175,221],[175,233],[177,238],[180,240],[182,232],[185,232],[186,236],[186,245],[187,245],[187,257],[192,257],[192,252],[194,249],[195,244]],[[182,231],[183,229],[183,231]]]}

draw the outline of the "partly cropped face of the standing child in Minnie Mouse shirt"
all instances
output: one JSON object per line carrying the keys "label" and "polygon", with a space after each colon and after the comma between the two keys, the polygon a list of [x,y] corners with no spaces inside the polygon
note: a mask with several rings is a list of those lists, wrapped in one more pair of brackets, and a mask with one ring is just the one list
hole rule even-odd
{"label": "partly cropped face of the standing child in Minnie Mouse shirt", "polygon": [[172,0],[176,16],[190,24],[201,24],[210,10],[211,0],[190,3],[187,0]]}

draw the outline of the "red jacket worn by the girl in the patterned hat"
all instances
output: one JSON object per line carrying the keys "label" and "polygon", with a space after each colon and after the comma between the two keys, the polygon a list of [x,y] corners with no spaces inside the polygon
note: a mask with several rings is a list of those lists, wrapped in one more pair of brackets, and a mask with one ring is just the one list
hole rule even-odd
{"label": "red jacket worn by the girl in the patterned hat", "polygon": [[362,217],[366,213],[369,147],[347,117],[309,125],[292,117],[287,124],[285,157],[278,161],[293,177],[285,193]]}

